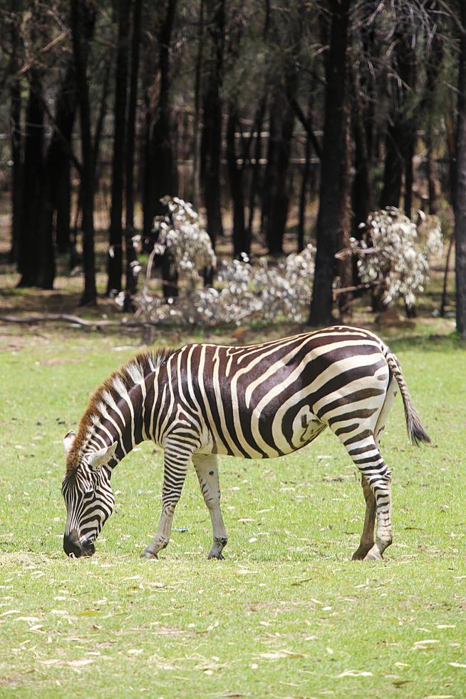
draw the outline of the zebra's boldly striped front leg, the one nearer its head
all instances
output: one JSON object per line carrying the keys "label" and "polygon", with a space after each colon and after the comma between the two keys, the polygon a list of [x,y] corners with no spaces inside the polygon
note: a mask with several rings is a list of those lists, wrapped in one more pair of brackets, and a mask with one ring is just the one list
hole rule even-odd
{"label": "zebra's boldly striped front leg, the one nearer its head", "polygon": [[185,483],[187,468],[191,456],[177,453],[176,447],[165,447],[163,461],[163,486],[162,486],[162,514],[160,524],[155,534],[155,539],[146,546],[141,553],[141,558],[157,558],[157,554],[170,541],[173,515],[175,507],[180,500],[183,484]]}

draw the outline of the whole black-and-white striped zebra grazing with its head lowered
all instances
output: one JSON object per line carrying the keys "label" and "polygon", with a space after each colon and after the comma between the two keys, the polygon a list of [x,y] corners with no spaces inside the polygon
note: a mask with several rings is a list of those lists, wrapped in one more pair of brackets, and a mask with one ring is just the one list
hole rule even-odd
{"label": "whole black-and-white striped zebra grazing with its head lowered", "polygon": [[380,559],[392,526],[391,471],[379,446],[398,388],[411,441],[430,442],[398,359],[368,330],[335,325],[245,347],[203,343],[138,354],[97,389],[77,434],[63,440],[63,549],[76,557],[95,552],[115,505],[113,469],[136,444],[152,440],[164,450],[162,514],[141,556],[157,558],[170,541],[192,461],[212,521],[208,557],[221,559],[227,531],[217,456],[283,456],[329,427],[356,464],[366,500],[353,559]]}

